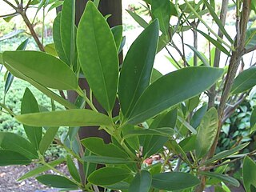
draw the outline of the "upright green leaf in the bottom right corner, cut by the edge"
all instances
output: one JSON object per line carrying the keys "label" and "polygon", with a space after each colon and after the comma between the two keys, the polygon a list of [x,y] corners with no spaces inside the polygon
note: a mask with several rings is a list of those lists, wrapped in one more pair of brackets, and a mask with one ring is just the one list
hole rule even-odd
{"label": "upright green leaf in the bottom right corner, cut by the edge", "polygon": [[243,160],[242,177],[246,192],[254,192],[255,190],[251,190],[251,186],[256,187],[256,164],[247,156]]}

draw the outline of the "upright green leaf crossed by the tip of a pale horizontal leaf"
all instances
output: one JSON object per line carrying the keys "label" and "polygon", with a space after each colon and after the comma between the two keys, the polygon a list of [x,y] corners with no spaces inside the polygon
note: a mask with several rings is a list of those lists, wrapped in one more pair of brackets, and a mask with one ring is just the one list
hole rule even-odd
{"label": "upright green leaf crossed by the tip of a pale horizontal leaf", "polygon": [[[39,112],[38,102],[29,88],[26,88],[22,98],[21,114],[37,113]],[[38,150],[39,143],[42,138],[42,127],[33,127],[23,125],[27,138],[33,144],[34,148]]]}

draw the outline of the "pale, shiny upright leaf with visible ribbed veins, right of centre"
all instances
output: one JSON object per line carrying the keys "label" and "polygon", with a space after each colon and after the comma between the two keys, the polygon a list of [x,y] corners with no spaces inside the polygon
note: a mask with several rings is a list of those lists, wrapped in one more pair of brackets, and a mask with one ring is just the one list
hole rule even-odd
{"label": "pale, shiny upright leaf with visible ribbed veins, right of centre", "polygon": [[202,118],[198,127],[198,134],[195,142],[195,152],[197,158],[204,157],[214,143],[218,132],[218,112],[212,107]]}

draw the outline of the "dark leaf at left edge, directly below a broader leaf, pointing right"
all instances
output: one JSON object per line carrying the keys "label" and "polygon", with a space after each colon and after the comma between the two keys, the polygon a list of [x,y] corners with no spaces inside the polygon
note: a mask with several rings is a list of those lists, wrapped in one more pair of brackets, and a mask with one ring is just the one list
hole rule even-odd
{"label": "dark leaf at left edge, directly below a broader leaf, pointing right", "polygon": [[0,150],[0,166],[28,165],[31,159],[12,150]]}

